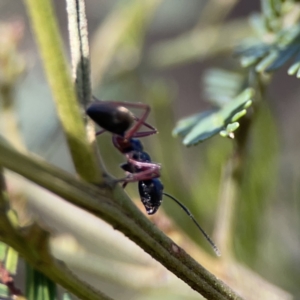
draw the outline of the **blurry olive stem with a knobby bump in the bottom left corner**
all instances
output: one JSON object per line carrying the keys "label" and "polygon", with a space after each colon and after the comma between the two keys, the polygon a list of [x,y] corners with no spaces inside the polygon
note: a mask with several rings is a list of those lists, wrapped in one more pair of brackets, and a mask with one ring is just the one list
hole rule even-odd
{"label": "blurry olive stem with a knobby bump in the bottom left corner", "polygon": [[20,234],[10,223],[7,211],[5,179],[3,173],[0,172],[0,239],[13,247],[34,268],[77,297],[86,300],[110,300],[100,291],[96,291],[93,287],[80,281],[62,262],[51,256],[48,249],[49,234],[47,232],[35,224],[30,230],[27,230],[26,235]]}

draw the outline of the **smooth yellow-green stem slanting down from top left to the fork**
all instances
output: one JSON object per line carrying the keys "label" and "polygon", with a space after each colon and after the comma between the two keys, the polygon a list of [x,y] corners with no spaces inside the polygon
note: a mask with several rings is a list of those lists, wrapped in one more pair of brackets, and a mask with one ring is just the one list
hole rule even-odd
{"label": "smooth yellow-green stem slanting down from top left to the fork", "polygon": [[25,3],[77,173],[89,182],[100,182],[99,165],[86,138],[51,2]]}

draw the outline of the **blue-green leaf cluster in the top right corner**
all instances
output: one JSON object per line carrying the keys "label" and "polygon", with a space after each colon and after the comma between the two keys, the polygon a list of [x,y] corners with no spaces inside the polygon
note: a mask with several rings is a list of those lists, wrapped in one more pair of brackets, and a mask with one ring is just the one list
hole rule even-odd
{"label": "blue-green leaf cluster in the top right corner", "polygon": [[300,78],[300,14],[296,2],[261,1],[262,14],[250,18],[255,37],[243,41],[236,50],[243,67],[253,67],[258,73],[274,72],[294,59],[288,74]]}

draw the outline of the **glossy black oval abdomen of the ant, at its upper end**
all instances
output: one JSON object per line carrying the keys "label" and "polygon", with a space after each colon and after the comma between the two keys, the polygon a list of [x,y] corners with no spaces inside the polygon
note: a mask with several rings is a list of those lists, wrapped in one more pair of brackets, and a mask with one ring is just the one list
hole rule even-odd
{"label": "glossy black oval abdomen of the ant, at its upper end", "polygon": [[121,136],[134,122],[134,116],[126,107],[110,102],[93,102],[88,106],[86,113],[103,129]]}

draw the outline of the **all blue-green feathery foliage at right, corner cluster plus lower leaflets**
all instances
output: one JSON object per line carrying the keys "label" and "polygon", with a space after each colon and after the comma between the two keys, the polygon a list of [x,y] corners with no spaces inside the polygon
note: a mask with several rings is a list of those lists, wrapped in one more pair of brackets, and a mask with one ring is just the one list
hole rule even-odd
{"label": "all blue-green feathery foliage at right, corner cluster plus lower leaflets", "polygon": [[[261,14],[250,18],[255,34],[236,49],[242,66],[246,72],[249,69],[257,73],[273,72],[294,58],[288,74],[300,78],[299,1],[261,0],[261,7]],[[254,95],[252,89],[238,95],[249,86],[245,77],[242,73],[209,71],[204,90],[217,108],[180,120],[173,135],[184,137],[186,146],[196,145],[217,133],[233,138],[233,132],[239,127],[237,121],[246,114]]]}

